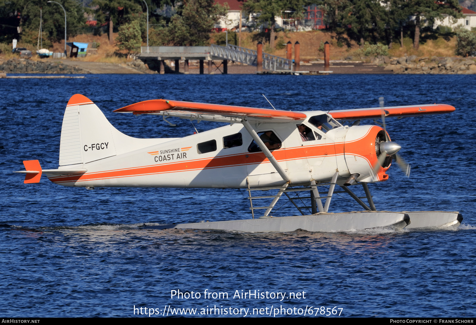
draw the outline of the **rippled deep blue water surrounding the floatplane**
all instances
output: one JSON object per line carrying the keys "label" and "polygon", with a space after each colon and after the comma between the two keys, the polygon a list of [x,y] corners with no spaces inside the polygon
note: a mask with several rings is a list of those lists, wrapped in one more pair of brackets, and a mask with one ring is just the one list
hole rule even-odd
{"label": "rippled deep blue water surrounding the floatplane", "polygon": [[[164,306],[169,316],[174,308],[198,308],[198,316],[200,308],[217,306],[235,314],[249,308],[248,315],[240,309],[238,316],[257,317],[253,308],[263,308],[264,314],[273,306],[274,315],[274,308],[282,306],[287,313],[295,308],[286,317],[308,315],[309,308],[315,316],[321,307],[329,307],[329,314],[343,308],[335,309],[340,316],[474,317],[475,81],[471,75],[0,79],[0,315],[134,316],[135,305],[147,307],[148,314],[149,308],[160,313],[151,317],[162,317]],[[171,127],[158,116],[112,111],[156,98],[268,108],[262,93],[276,108],[296,111],[377,107],[380,96],[387,106],[451,104],[456,107],[451,114],[387,119],[387,130],[402,145],[412,174],[407,179],[394,165],[387,182],[369,186],[377,209],[460,211],[463,224],[425,232],[346,234],[141,230],[138,225],[144,222],[249,218],[247,193],[89,191],[55,185],[45,177],[39,184],[23,184],[23,176],[12,173],[23,169],[23,160],[39,159],[44,169],[58,167],[63,113],[75,93],[94,101],[121,132],[143,138],[179,137],[194,130],[186,120],[170,119],[178,124]],[[195,122],[198,131],[218,125]],[[341,195],[333,199],[331,211],[361,210]],[[296,213],[288,203],[273,215]],[[201,297],[171,299],[171,290]],[[205,290],[227,292],[228,299],[204,299]],[[268,292],[269,298],[233,298],[236,290],[240,295],[241,290]],[[277,292],[285,299],[270,298]],[[290,292],[301,292],[300,299],[289,298]],[[284,317],[280,311],[276,316]]]}

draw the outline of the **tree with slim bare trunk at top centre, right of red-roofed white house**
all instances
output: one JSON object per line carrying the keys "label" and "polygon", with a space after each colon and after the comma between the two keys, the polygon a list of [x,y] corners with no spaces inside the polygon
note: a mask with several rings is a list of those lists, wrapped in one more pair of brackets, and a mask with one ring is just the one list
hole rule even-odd
{"label": "tree with slim bare trunk at top centre, right of red-roofed white house", "polygon": [[274,49],[274,39],[276,38],[276,16],[282,16],[285,10],[291,12],[290,18],[301,20],[304,18],[305,6],[309,5],[308,0],[248,0],[243,3],[243,10],[249,13],[259,13],[256,20],[261,25],[269,27],[269,46]]}

